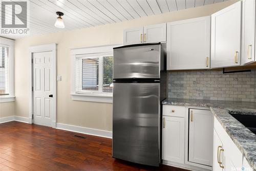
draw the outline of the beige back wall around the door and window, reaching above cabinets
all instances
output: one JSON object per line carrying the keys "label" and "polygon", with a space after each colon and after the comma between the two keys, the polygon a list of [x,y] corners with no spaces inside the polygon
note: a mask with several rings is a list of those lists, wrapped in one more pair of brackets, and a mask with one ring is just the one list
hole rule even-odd
{"label": "beige back wall around the door and window, reaching above cabinets", "polygon": [[[57,122],[112,131],[112,104],[73,101],[71,92],[71,48],[120,44],[123,29],[143,25],[159,24],[214,13],[236,1],[142,17],[126,22],[79,29],[68,32],[45,34],[17,39],[15,41],[15,113],[17,116],[29,115],[29,46],[57,44]],[[65,17],[64,17],[65,18]]]}

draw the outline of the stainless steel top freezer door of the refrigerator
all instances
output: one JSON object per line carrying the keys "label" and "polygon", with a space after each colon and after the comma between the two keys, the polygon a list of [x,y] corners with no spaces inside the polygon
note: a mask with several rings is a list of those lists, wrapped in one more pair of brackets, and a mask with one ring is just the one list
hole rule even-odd
{"label": "stainless steel top freezer door of the refrigerator", "polygon": [[114,49],[114,79],[160,78],[160,45]]}

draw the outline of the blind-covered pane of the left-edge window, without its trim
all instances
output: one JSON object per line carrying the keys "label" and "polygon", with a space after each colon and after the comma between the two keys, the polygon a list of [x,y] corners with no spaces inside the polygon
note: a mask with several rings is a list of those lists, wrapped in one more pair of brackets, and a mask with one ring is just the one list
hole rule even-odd
{"label": "blind-covered pane of the left-edge window, without its trim", "polygon": [[0,46],[0,95],[9,94],[9,48]]}

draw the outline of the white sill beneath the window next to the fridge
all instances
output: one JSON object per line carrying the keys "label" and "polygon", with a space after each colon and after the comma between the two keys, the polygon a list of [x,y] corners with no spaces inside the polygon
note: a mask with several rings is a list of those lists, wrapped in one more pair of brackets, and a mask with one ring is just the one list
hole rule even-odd
{"label": "white sill beneath the window next to the fridge", "polygon": [[112,103],[113,102],[113,95],[109,94],[78,94],[78,93],[71,93],[72,100],[78,101],[94,101],[94,102],[103,102],[103,103]]}

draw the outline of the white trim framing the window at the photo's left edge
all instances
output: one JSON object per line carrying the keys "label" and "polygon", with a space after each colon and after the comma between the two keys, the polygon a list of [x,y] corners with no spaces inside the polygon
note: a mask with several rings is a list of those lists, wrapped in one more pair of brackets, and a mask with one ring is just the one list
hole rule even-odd
{"label": "white trim framing the window at the photo's left edge", "polygon": [[0,103],[15,101],[14,96],[14,40],[0,37],[0,45],[9,49],[9,94],[0,95]]}

